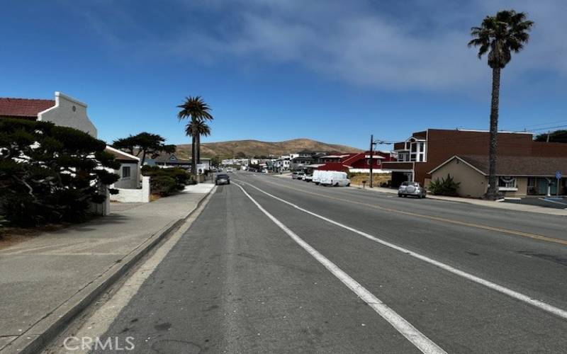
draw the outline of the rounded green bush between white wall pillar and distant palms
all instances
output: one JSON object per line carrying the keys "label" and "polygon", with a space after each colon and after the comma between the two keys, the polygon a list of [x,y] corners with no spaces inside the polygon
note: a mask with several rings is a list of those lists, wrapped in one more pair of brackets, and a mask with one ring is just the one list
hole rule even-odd
{"label": "rounded green bush between white wall pillar and distant palms", "polygon": [[143,166],[142,175],[150,176],[150,189],[152,194],[167,197],[173,193],[183,190],[186,185],[195,184],[187,171],[173,167],[171,169],[161,169],[157,166]]}

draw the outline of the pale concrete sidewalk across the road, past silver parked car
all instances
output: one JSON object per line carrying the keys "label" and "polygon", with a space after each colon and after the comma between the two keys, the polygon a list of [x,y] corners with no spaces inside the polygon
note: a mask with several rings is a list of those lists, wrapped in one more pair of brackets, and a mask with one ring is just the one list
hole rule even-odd
{"label": "pale concrete sidewalk across the road, past silver parked car", "polygon": [[[398,190],[391,188],[382,188],[382,187],[362,188],[358,185],[353,185],[349,188],[355,188],[359,190],[364,189],[370,192],[398,194]],[[539,207],[537,205],[522,205],[522,204],[512,204],[507,202],[491,202],[490,200],[459,198],[459,197],[444,197],[442,195],[430,195],[430,194],[427,195],[427,198],[446,200],[449,202],[466,202],[468,204],[481,205],[483,207],[494,207],[497,209],[505,209],[505,210],[517,210],[520,212],[537,212],[539,214],[567,216],[567,210],[554,209],[551,207]]]}

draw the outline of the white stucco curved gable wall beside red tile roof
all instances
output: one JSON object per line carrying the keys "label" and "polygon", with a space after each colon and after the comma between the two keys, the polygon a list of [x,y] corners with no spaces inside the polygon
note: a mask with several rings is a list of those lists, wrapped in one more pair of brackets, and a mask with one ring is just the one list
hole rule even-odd
{"label": "white stucco curved gable wall beside red tile roof", "polygon": [[96,127],[86,115],[86,104],[60,92],[55,92],[55,106],[40,112],[38,120],[82,130],[93,137],[97,135]]}

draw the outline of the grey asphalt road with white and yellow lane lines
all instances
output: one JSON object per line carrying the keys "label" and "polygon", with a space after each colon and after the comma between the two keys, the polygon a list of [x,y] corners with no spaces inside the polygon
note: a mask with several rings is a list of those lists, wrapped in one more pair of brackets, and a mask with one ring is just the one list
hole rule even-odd
{"label": "grey asphalt road with white and yellow lane lines", "polygon": [[566,218],[231,179],[104,336],[136,353],[567,353]]}

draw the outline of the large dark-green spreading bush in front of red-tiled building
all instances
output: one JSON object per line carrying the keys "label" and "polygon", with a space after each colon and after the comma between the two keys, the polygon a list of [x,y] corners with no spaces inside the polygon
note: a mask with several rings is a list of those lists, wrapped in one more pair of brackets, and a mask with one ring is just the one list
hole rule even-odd
{"label": "large dark-green spreading bush in front of red-tiled building", "polygon": [[[83,222],[119,176],[106,143],[51,122],[0,120],[0,210],[11,223],[32,227]],[[117,190],[111,190],[116,193]]]}

